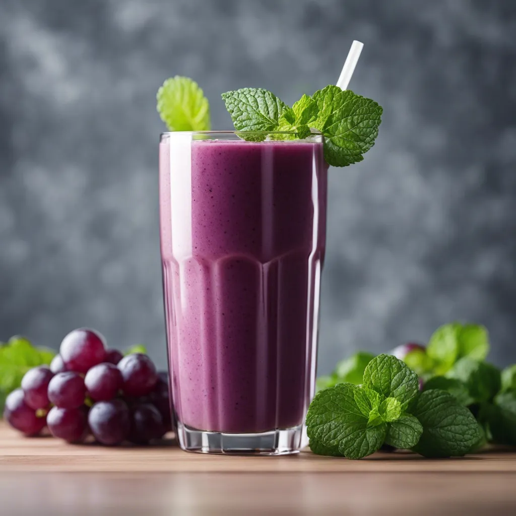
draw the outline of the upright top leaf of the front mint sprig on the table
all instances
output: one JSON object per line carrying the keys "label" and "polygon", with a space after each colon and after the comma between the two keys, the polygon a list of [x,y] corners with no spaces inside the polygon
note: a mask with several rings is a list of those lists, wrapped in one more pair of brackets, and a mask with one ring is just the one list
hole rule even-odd
{"label": "upright top leaf of the front mint sprig on the table", "polygon": [[396,398],[405,409],[418,393],[419,379],[405,362],[380,354],[367,364],[364,385],[385,398]]}

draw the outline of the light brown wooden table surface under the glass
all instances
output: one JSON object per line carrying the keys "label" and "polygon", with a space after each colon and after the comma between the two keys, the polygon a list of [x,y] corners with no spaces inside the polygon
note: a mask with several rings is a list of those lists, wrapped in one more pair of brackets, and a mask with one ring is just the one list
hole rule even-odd
{"label": "light brown wooden table surface under the glass", "polygon": [[188,454],[23,438],[0,422],[0,514],[516,514],[516,453]]}

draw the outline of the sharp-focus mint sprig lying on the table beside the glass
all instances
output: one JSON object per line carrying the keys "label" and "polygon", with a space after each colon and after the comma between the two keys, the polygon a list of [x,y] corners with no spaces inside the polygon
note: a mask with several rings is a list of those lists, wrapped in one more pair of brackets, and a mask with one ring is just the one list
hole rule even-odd
{"label": "sharp-focus mint sprig lying on the table beside the glass", "polygon": [[426,457],[461,456],[481,439],[467,408],[445,391],[420,394],[417,375],[396,357],[371,360],[363,382],[316,394],[307,414],[314,453],[360,459],[385,443]]}

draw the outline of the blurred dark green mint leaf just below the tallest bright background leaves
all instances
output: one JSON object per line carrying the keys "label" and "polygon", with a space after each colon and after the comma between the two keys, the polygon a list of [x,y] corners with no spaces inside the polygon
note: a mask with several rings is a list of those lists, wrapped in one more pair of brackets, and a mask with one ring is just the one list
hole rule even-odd
{"label": "blurred dark green mint leaf just below the tallest bright background leaves", "polygon": [[494,365],[469,357],[461,358],[446,373],[447,378],[464,382],[473,400],[491,401],[502,386],[500,371]]}

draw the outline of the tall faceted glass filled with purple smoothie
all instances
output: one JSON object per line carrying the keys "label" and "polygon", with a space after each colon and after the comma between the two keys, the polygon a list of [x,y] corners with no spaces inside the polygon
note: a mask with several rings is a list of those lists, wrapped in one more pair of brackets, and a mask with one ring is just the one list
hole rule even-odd
{"label": "tall faceted glass filled with purple smoothie", "polygon": [[327,165],[321,135],[268,135],[160,139],[171,399],[184,450],[279,455],[302,445],[315,388]]}

